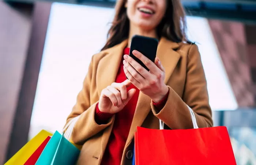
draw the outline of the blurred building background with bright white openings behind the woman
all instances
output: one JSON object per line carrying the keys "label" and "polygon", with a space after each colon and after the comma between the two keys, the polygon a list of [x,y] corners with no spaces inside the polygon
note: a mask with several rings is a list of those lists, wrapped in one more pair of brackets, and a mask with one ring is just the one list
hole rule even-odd
{"label": "blurred building background with bright white openings behind the woman", "polygon": [[[181,0],[215,126],[256,165],[256,0]],[[0,1],[0,164],[40,130],[62,131],[115,0]]]}

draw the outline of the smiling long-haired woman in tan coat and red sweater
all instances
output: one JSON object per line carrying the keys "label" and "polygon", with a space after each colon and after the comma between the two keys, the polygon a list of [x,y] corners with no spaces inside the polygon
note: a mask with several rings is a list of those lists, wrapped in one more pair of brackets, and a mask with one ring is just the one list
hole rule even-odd
{"label": "smiling long-haired woman in tan coat and red sweater", "polygon": [[[166,129],[190,129],[189,109],[199,127],[212,126],[200,54],[185,25],[179,0],[117,1],[108,40],[67,119],[66,134],[83,145],[79,164],[131,164],[137,126],[159,129],[160,119]],[[155,62],[132,52],[150,71],[127,56],[133,35],[160,40]]]}

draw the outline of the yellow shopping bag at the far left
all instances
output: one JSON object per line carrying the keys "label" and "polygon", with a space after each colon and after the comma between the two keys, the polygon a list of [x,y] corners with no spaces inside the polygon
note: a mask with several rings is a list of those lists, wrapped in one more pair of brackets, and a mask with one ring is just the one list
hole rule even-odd
{"label": "yellow shopping bag at the far left", "polygon": [[4,165],[23,165],[29,157],[38,149],[38,147],[45,141],[52,133],[41,130],[35,137],[33,137],[26,145],[24,145],[14,156],[10,158]]}

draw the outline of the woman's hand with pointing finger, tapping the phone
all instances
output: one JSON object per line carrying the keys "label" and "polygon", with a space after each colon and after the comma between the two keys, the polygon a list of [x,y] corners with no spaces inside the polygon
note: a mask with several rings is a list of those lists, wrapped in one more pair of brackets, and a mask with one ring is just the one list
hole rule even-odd
{"label": "woman's hand with pointing finger, tapping the phone", "polygon": [[131,85],[129,80],[122,83],[112,83],[101,91],[98,107],[104,113],[117,113],[121,111],[128,101],[135,94],[135,89],[130,89],[127,92],[127,87]]}

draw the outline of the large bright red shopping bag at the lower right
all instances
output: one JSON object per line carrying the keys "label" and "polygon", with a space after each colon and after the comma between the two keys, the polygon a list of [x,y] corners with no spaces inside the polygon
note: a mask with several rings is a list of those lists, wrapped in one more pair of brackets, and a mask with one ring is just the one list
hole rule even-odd
{"label": "large bright red shopping bag at the lower right", "polygon": [[226,127],[187,130],[137,127],[135,164],[236,165],[236,160]]}

